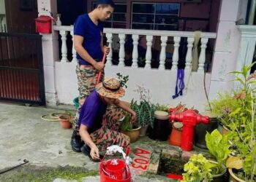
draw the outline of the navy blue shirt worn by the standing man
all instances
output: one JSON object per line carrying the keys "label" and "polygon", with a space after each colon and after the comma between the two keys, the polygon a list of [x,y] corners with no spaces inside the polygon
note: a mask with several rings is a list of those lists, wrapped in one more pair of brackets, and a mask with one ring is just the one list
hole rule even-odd
{"label": "navy blue shirt worn by the standing man", "polygon": [[[75,21],[74,35],[83,36],[83,48],[94,60],[102,60],[102,50],[100,47],[102,39],[103,25],[101,22],[95,25],[88,14],[80,15]],[[80,57],[77,53],[80,65],[91,65]]]}

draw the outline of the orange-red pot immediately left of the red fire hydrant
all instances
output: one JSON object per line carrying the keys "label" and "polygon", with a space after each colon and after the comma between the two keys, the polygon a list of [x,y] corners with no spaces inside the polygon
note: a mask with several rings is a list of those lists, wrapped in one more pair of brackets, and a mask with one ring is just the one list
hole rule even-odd
{"label": "orange-red pot immediately left of the red fire hydrant", "polygon": [[172,146],[181,146],[181,136],[182,136],[182,127],[181,122],[173,123],[173,130],[170,133],[169,143]]}

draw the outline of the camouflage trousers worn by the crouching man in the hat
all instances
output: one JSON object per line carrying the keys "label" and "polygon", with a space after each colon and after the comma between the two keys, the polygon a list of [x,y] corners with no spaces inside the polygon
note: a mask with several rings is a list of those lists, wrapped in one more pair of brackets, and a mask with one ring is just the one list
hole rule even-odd
{"label": "camouflage trousers worn by the crouching man in the hat", "polygon": [[118,145],[124,149],[129,146],[129,136],[118,132],[124,110],[110,105],[102,119],[102,127],[90,134],[91,140],[99,149],[99,154],[105,154],[108,146]]}

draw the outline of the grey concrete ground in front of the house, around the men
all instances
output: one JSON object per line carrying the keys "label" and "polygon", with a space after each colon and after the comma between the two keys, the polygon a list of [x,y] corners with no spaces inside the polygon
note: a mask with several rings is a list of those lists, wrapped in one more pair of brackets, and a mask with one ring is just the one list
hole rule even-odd
{"label": "grey concrete ground in front of the house, around the men", "polygon": [[[15,176],[13,174],[27,168],[71,166],[98,171],[99,163],[91,162],[89,157],[72,151],[69,144],[72,130],[63,130],[59,122],[47,122],[40,118],[44,114],[61,111],[64,110],[0,103],[0,172],[20,164],[23,159],[29,160],[26,165],[0,174],[0,181],[18,181],[13,178]],[[185,159],[190,156],[190,153],[186,152],[181,154],[178,149],[173,149],[167,142],[151,141],[146,138],[140,138],[139,141],[132,143],[131,148],[130,156],[132,159],[137,158],[137,162],[141,161],[141,155],[135,156],[136,150],[146,149],[151,153],[148,158],[144,157],[151,160],[147,170],[138,170],[135,181],[169,181],[164,176],[157,175],[159,155],[162,149],[164,153],[174,157],[179,155]],[[146,175],[148,172],[151,175]],[[61,181],[61,179],[56,179],[56,181]],[[83,181],[99,181],[99,176],[89,176],[83,178]]]}

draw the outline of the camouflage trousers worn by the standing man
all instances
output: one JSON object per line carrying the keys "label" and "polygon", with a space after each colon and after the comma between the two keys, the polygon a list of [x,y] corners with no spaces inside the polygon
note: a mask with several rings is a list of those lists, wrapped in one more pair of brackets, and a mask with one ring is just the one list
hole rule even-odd
{"label": "camouflage trousers worn by the standing man", "polygon": [[[78,119],[80,115],[80,108],[83,106],[86,98],[90,95],[90,93],[95,89],[97,84],[97,77],[99,71],[94,68],[94,66],[85,66],[85,65],[77,65],[76,74],[78,76],[78,92],[79,92],[79,107],[75,114],[75,118],[72,122],[72,127],[74,130],[79,130],[78,128]],[[100,82],[104,79],[104,71],[102,71],[102,76],[100,78]]]}

